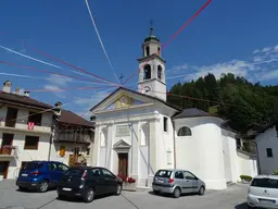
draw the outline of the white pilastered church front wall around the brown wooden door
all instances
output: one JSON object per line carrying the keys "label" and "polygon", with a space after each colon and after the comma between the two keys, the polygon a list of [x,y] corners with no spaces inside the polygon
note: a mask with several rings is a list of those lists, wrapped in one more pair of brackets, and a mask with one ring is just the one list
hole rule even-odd
{"label": "white pilastered church front wall around the brown wooden door", "polygon": [[[118,172],[118,152],[128,152],[128,175],[137,179],[139,186],[151,185],[154,173],[160,168],[174,167],[173,150],[173,126],[168,118],[168,131],[163,132],[163,116],[173,115],[174,110],[157,104],[157,101],[144,97],[130,95],[136,99],[143,100],[146,103],[137,108],[124,110],[100,111],[96,114],[94,132],[94,164],[111,169],[115,174]],[[113,102],[113,99],[112,101]],[[105,106],[109,106],[109,102]],[[130,125],[129,136],[116,136],[117,125]],[[143,126],[147,124],[147,126]],[[103,127],[108,126],[109,133],[106,145],[101,146]],[[144,137],[144,138],[143,138]],[[142,144],[146,139],[147,144]],[[130,145],[129,149],[113,149],[113,146],[124,140]],[[167,155],[167,151],[170,155]],[[169,156],[169,157],[168,157]]]}

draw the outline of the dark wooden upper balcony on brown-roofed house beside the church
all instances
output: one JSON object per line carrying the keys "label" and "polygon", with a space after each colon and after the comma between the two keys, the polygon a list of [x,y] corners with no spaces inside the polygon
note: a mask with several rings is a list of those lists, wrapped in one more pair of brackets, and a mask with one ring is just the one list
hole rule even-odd
{"label": "dark wooden upper balcony on brown-roofed house beside the church", "polygon": [[67,143],[80,143],[90,144],[92,142],[92,135],[87,133],[73,133],[73,132],[60,132],[55,140]]}

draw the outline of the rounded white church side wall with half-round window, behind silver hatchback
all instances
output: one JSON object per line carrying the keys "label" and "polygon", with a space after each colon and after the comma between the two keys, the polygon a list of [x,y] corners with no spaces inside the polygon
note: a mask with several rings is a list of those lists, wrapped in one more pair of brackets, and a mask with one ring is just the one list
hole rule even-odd
{"label": "rounded white church side wall with half-round window, behind silver hatchback", "polygon": [[216,118],[175,120],[176,133],[182,126],[192,132],[192,136],[176,136],[177,169],[193,172],[212,189],[227,187],[219,122]]}

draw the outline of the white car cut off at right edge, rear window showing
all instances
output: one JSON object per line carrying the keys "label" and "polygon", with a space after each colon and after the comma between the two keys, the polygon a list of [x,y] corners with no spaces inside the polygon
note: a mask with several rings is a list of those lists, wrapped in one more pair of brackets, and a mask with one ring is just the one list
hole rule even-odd
{"label": "white car cut off at right edge, rear window showing", "polygon": [[278,175],[257,175],[248,190],[249,208],[278,208]]}

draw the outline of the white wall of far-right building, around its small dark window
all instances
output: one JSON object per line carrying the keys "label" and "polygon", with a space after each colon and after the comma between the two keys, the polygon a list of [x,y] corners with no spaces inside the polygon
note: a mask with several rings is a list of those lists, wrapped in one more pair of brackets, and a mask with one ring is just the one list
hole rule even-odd
{"label": "white wall of far-right building, around its small dark window", "polygon": [[[262,174],[270,174],[278,170],[278,137],[275,126],[261,133],[255,138],[257,144],[257,155]],[[266,149],[273,149],[273,157],[268,158]]]}

